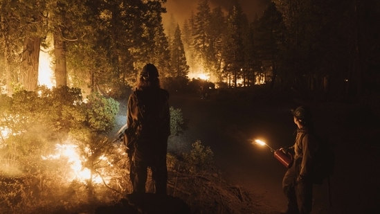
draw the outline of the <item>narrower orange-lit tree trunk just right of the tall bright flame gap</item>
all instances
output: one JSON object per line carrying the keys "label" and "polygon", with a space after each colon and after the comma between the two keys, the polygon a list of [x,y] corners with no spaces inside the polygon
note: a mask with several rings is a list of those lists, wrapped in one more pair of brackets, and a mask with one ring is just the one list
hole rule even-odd
{"label": "narrower orange-lit tree trunk just right of the tall bright flame gap", "polygon": [[60,32],[54,33],[54,54],[55,54],[55,82],[56,87],[67,85],[66,71],[66,45]]}

